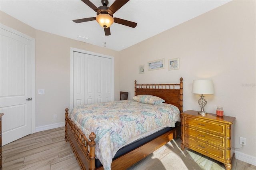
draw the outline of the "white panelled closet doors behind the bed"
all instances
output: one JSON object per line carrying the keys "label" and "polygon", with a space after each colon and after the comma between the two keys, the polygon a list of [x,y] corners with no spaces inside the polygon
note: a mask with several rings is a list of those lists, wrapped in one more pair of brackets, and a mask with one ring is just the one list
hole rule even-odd
{"label": "white panelled closet doors behind the bed", "polygon": [[112,101],[112,59],[74,52],[73,105]]}

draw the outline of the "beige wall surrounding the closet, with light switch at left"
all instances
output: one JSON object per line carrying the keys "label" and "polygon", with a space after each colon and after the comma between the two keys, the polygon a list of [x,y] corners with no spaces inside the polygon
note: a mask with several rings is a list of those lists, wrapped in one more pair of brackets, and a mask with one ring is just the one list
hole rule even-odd
{"label": "beige wall surrounding the closet, with light switch at left", "polygon": [[[118,56],[113,50],[37,30],[36,89],[44,89],[44,95],[36,95],[36,127],[63,122],[63,111],[70,106],[70,47],[104,53],[115,60]],[[52,119],[53,114],[57,119]]]}

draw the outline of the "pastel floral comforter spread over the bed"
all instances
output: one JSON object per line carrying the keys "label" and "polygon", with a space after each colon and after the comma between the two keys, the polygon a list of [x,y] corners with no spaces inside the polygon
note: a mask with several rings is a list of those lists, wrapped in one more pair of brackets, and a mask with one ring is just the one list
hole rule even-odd
{"label": "pastel floral comforter spread over the bed", "polygon": [[129,140],[180,121],[180,111],[174,105],[150,105],[134,100],[122,100],[75,107],[70,118],[84,132],[96,134],[96,158],[105,170],[111,169],[112,158]]}

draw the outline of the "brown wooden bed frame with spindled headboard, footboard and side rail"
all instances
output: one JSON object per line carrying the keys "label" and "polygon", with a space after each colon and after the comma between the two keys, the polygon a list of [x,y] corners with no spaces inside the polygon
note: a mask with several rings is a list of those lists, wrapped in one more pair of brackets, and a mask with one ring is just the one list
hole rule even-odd
{"label": "brown wooden bed frame with spindled headboard, footboard and side rail", "polygon": [[[136,95],[154,95],[165,100],[165,103],[175,105],[182,112],[183,107],[183,78],[180,78],[180,83],[175,84],[137,84],[135,81],[135,96]],[[65,109],[65,140],[70,142],[74,154],[81,169],[95,170],[95,144],[96,135],[91,132],[89,136],[85,136],[83,132],[75,125],[68,116],[68,109]],[[176,138],[181,133],[180,125],[172,130],[154,138],[136,149],[113,160],[111,166],[113,170],[126,169],[148,156],[173,138]],[[97,170],[103,170],[103,167],[98,167]]]}

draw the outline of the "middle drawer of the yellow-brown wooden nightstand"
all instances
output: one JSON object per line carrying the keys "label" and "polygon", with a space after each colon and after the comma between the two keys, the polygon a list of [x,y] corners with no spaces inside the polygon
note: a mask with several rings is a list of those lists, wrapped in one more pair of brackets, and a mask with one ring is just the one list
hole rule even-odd
{"label": "middle drawer of the yellow-brown wooden nightstand", "polygon": [[185,135],[198,138],[209,144],[225,147],[225,138],[223,136],[206,133],[204,131],[190,128],[190,127],[184,127],[184,128],[185,128]]}

